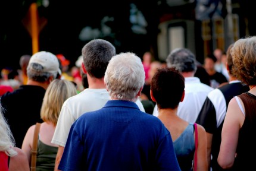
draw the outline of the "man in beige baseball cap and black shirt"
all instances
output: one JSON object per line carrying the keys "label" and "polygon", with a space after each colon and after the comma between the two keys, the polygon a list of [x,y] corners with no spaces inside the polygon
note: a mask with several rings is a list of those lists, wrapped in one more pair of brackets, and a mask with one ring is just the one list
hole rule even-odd
{"label": "man in beige baseball cap and black shirt", "polygon": [[37,52],[27,66],[27,84],[1,97],[3,113],[16,142],[21,148],[27,129],[40,119],[40,109],[46,88],[60,74],[60,64],[51,52]]}

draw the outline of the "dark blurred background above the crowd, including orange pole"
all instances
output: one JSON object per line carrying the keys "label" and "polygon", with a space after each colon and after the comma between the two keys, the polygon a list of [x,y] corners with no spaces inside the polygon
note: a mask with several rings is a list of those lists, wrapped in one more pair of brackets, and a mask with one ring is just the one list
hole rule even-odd
{"label": "dark blurred background above the crowd, including orange pole", "polygon": [[[33,4],[33,5],[32,5]],[[1,1],[0,69],[20,68],[22,55],[46,50],[75,65],[82,47],[105,39],[120,52],[146,51],[165,61],[176,47],[186,47],[199,62],[213,50],[256,32],[256,1]]]}

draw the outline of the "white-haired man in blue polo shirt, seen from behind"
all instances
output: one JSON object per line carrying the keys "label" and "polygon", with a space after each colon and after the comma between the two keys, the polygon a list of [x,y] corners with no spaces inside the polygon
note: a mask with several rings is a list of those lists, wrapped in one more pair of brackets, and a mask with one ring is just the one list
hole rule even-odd
{"label": "white-haired man in blue polo shirt, seen from behind", "polygon": [[60,170],[180,170],[170,132],[139,110],[145,71],[134,53],[113,56],[104,83],[111,100],[71,126]]}

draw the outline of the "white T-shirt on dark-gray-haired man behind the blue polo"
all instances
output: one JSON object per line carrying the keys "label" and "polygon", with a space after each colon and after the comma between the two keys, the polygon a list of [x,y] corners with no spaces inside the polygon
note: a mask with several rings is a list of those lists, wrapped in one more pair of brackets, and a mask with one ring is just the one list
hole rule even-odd
{"label": "white T-shirt on dark-gray-haired man behind the blue polo", "polygon": [[[106,89],[86,88],[76,96],[65,100],[61,108],[52,143],[65,147],[68,133],[74,121],[85,112],[101,109],[110,100]],[[136,101],[142,112],[145,109],[140,100]]]}

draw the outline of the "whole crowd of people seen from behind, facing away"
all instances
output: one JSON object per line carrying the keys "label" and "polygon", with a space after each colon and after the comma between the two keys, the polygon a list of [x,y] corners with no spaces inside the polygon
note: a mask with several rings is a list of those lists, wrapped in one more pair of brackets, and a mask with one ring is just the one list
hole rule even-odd
{"label": "whole crowd of people seen from behind, facing away", "polygon": [[255,49],[250,36],[204,64],[186,48],[160,62],[93,39],[73,68],[23,55],[1,72],[0,170],[252,170]]}

